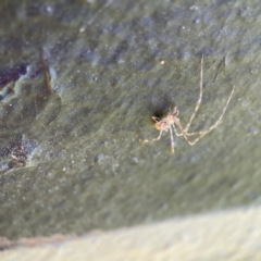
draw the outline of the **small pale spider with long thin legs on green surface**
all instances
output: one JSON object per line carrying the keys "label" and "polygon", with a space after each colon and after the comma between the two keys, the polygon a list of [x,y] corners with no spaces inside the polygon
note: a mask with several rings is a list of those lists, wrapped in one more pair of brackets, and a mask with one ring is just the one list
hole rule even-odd
{"label": "small pale spider with long thin legs on green surface", "polygon": [[[178,115],[178,110],[176,107],[174,107],[173,110],[170,109],[169,111],[169,114],[163,117],[162,120],[160,120],[159,117],[156,117],[156,116],[152,116],[152,120],[156,122],[154,123],[154,127],[160,130],[160,135],[157,137],[157,138],[153,138],[153,139],[139,139],[140,142],[150,142],[150,141],[156,141],[156,140],[159,140],[161,138],[161,135],[163,132],[167,132],[170,130],[170,134],[171,134],[171,148],[172,148],[172,153],[174,153],[174,138],[173,138],[173,129],[174,129],[174,133],[176,136],[183,136],[187,142],[190,145],[190,146],[194,146],[195,144],[197,144],[206,134],[210,133],[211,130],[213,130],[214,128],[216,128],[221,122],[222,122],[222,119],[225,114],[225,111],[226,111],[226,108],[231,101],[231,98],[232,98],[232,95],[234,92],[234,89],[235,89],[235,86],[233,86],[233,89],[232,89],[232,92],[225,103],[225,107],[223,109],[223,112],[221,113],[219,120],[211,126],[209,127],[208,129],[206,130],[201,130],[201,132],[198,132],[198,133],[188,133],[188,129],[190,127],[190,124],[196,115],[196,113],[198,112],[198,109],[199,109],[199,105],[201,103],[201,100],[202,100],[202,87],[203,87],[203,55],[202,55],[202,59],[201,59],[201,72],[200,72],[200,92],[199,92],[199,99],[198,99],[198,102],[196,104],[196,108],[194,110],[194,113],[189,120],[189,122],[187,123],[187,125],[185,127],[183,127],[179,119],[177,117]],[[176,129],[176,126],[178,127],[179,132],[177,132]],[[173,129],[172,129],[173,127]],[[194,141],[190,141],[188,139],[189,136],[194,136],[194,135],[198,135],[198,137],[194,140]]]}

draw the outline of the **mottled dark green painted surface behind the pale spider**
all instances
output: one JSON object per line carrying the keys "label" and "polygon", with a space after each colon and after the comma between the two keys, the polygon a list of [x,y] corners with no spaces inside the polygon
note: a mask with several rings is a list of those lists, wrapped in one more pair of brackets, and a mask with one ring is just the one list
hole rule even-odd
{"label": "mottled dark green painted surface behind the pale spider", "polygon": [[[259,204],[260,14],[243,0],[1,1],[0,236]],[[216,121],[235,85],[223,123],[194,147],[175,137],[174,156],[169,134],[139,144],[170,105],[188,121],[202,53],[191,130]],[[21,144],[26,166],[11,169]]]}

